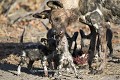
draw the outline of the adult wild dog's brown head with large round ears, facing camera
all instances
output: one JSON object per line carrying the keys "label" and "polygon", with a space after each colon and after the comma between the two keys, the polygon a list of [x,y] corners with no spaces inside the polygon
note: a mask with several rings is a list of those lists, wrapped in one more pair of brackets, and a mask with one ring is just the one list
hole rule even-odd
{"label": "adult wild dog's brown head with large round ears, facing camera", "polygon": [[74,22],[77,16],[72,13],[72,10],[64,9],[63,4],[59,1],[48,1],[47,6],[51,9],[35,13],[33,17],[49,19],[52,28],[56,31],[56,35],[62,37],[65,34],[66,27],[71,22]]}

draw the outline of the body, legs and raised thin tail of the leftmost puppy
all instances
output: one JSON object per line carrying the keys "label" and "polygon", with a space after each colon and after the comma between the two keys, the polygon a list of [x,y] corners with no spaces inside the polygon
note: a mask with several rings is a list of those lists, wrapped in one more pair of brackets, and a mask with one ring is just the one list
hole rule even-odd
{"label": "body, legs and raised thin tail of the leftmost puppy", "polygon": [[[21,36],[21,40],[20,40],[21,44],[23,44],[24,32],[25,32],[25,29]],[[55,43],[55,42],[53,42],[53,43]],[[17,69],[18,73],[17,74],[20,75],[21,66],[23,66],[23,64],[27,63],[26,58],[29,58],[29,64],[28,64],[29,70],[32,70],[32,65],[33,65],[34,61],[41,60],[42,65],[44,67],[45,76],[48,76],[47,62],[51,63],[50,60],[51,60],[51,58],[53,58],[53,55],[55,56],[55,54],[53,54],[51,52],[49,47],[46,45],[43,45],[41,43],[36,43],[36,44],[29,43],[29,44],[25,45],[22,48],[21,61],[18,65],[18,69]]]}

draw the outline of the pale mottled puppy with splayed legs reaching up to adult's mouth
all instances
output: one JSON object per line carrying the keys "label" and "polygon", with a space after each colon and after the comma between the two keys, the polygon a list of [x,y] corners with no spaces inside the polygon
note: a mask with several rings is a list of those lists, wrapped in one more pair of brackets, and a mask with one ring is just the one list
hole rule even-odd
{"label": "pale mottled puppy with splayed legs reaching up to adult's mouth", "polygon": [[59,76],[61,75],[61,70],[64,67],[64,65],[70,65],[75,72],[75,76],[78,77],[77,70],[73,63],[72,55],[68,49],[69,46],[68,46],[67,37],[65,35],[65,28],[60,27],[59,29],[55,28],[55,30],[60,30],[60,33],[59,33],[59,31],[56,31],[57,32],[56,39],[58,41],[57,50],[58,50],[58,54],[59,54],[59,58],[60,58],[60,60],[59,60],[60,64],[58,66],[58,69],[59,69],[58,74],[59,74]]}

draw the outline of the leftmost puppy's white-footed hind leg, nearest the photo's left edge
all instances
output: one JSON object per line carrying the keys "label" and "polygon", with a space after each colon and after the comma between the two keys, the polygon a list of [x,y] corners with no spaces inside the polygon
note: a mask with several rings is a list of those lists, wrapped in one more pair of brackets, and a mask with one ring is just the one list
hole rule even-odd
{"label": "leftmost puppy's white-footed hind leg, nearest the photo's left edge", "polygon": [[26,52],[22,51],[22,56],[21,56],[21,61],[18,64],[18,68],[17,68],[17,75],[21,74],[21,66],[23,66],[25,64],[25,58],[26,58]]}

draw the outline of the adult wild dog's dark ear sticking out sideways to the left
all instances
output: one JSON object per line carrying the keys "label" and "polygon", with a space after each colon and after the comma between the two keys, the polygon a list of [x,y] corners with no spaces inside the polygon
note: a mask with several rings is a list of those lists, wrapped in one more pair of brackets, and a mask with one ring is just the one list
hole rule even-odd
{"label": "adult wild dog's dark ear sticking out sideways to the left", "polygon": [[33,14],[33,17],[35,17],[35,18],[41,18],[41,19],[46,19],[46,18],[49,18],[50,13],[51,13],[51,10],[45,10],[45,11],[43,11],[41,13],[35,13],[35,14]]}

